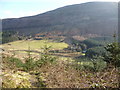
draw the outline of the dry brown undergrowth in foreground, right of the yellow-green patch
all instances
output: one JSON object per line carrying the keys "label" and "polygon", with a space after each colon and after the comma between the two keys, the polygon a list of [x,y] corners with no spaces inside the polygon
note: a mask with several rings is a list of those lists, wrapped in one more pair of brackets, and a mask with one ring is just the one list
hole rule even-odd
{"label": "dry brown undergrowth in foreground, right of the yellow-green patch", "polygon": [[[111,73],[112,71],[112,73]],[[78,71],[63,62],[40,68],[49,88],[117,88],[118,73],[114,68],[103,72]]]}

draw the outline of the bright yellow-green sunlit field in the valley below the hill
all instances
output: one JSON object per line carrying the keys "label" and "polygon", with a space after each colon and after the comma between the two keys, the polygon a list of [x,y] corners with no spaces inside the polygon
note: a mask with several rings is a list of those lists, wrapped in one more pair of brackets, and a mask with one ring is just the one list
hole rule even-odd
{"label": "bright yellow-green sunlit field in the valley below the hill", "polygon": [[7,44],[3,44],[2,47],[6,50],[40,50],[47,45],[51,46],[52,50],[61,50],[68,47],[68,44],[64,42],[52,42],[49,40],[20,40]]}

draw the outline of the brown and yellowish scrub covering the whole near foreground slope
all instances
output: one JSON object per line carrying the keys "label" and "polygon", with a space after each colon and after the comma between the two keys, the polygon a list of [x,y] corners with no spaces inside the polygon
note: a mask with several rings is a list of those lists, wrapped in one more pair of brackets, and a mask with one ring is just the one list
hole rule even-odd
{"label": "brown and yellowish scrub covering the whole near foreground slope", "polygon": [[[50,59],[57,61],[51,63]],[[118,87],[118,73],[114,66],[93,72],[90,69],[77,69],[78,64],[74,61],[62,61],[52,57],[49,57],[49,60],[47,62],[39,61],[40,63],[37,63],[36,66],[33,65],[33,62],[36,61],[25,62],[22,65],[19,59],[3,55],[3,88]]]}

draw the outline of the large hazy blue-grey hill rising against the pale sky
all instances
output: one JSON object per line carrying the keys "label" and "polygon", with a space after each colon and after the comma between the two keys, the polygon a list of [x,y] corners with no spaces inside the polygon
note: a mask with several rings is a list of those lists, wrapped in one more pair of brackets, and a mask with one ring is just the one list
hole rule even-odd
{"label": "large hazy blue-grey hill rising against the pale sky", "polygon": [[114,2],[69,5],[35,16],[3,19],[2,26],[3,31],[27,35],[56,30],[67,35],[110,35],[117,30],[117,7]]}

